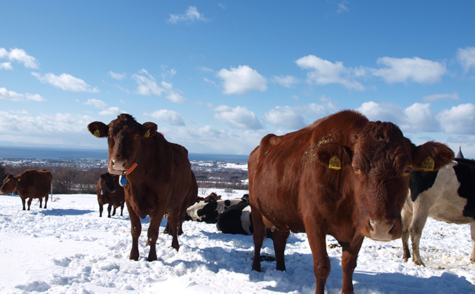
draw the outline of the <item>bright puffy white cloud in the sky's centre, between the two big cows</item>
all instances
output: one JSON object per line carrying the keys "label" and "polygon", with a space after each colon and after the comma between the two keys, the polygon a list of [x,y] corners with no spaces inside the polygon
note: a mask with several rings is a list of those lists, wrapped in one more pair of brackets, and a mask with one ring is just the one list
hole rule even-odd
{"label": "bright puffy white cloud in the sky's centre, between the two big cows", "polygon": [[251,90],[267,90],[267,79],[249,66],[231,67],[230,71],[222,68],[217,75],[223,80],[224,94],[241,95]]}

